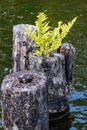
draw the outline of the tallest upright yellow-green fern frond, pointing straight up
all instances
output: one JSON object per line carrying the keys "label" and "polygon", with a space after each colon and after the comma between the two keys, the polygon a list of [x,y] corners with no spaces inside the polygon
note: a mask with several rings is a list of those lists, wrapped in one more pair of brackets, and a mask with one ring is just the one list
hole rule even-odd
{"label": "tallest upright yellow-green fern frond, pointing straight up", "polygon": [[35,41],[36,48],[38,48],[35,52],[37,56],[46,56],[46,47],[48,45],[48,32],[49,32],[49,23],[46,21],[47,16],[44,13],[39,13],[36,20],[36,27],[38,35],[36,36],[35,33],[30,34],[30,37]]}

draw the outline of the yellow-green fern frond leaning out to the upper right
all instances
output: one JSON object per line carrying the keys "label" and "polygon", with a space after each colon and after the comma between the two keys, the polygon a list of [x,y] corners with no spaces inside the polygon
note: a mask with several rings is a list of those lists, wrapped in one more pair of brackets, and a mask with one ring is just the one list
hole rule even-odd
{"label": "yellow-green fern frond leaning out to the upper right", "polygon": [[77,20],[77,17],[75,17],[71,22],[68,22],[68,24],[62,24],[61,21],[58,22],[58,27],[56,27],[53,30],[53,39],[52,39],[52,48],[56,50],[61,46],[62,40],[66,37],[66,35],[69,33],[69,30]]}

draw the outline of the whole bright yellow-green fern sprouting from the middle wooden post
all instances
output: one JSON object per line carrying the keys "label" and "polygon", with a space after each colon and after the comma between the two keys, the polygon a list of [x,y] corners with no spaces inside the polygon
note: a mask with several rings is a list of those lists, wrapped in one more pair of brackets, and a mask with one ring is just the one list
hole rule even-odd
{"label": "whole bright yellow-green fern sprouting from the middle wooden post", "polygon": [[31,37],[36,44],[35,55],[45,57],[52,51],[58,49],[76,19],[77,17],[71,22],[68,22],[68,24],[63,24],[59,21],[58,26],[51,30],[49,22],[47,22],[47,15],[43,12],[39,13],[39,15],[37,15],[37,20],[35,21],[37,31],[31,32],[25,26],[27,35]]}

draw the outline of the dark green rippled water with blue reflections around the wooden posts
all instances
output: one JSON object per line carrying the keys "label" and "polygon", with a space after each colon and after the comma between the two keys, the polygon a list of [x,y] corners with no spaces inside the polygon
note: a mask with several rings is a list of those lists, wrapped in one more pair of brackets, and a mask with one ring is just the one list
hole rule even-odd
{"label": "dark green rippled water with blue reflections around the wooden posts", "polygon": [[77,49],[70,116],[62,123],[52,123],[50,130],[87,130],[87,0],[0,0],[0,84],[12,66],[13,26],[34,24],[40,11],[48,15],[51,26],[56,26],[59,20],[68,22],[78,16],[76,24],[64,39]]}

